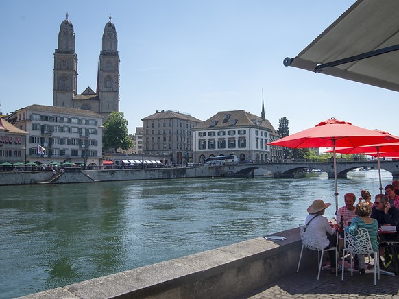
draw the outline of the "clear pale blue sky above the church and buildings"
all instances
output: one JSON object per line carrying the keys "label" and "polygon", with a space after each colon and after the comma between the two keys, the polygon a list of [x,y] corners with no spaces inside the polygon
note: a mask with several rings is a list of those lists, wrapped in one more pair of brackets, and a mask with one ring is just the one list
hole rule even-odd
{"label": "clear pale blue sky above the church and buildings", "polygon": [[104,26],[120,56],[120,111],[134,134],[156,110],[202,121],[245,110],[293,134],[335,117],[399,134],[385,113],[398,93],[285,67],[354,1],[2,0],[0,111],[53,105],[53,53],[66,13],[75,30],[77,93],[95,90]]}

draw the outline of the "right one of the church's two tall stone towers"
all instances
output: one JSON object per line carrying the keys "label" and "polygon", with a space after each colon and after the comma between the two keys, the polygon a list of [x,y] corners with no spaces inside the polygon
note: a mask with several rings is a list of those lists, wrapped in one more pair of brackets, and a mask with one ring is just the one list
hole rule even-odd
{"label": "right one of the church's two tall stone towers", "polygon": [[102,49],[99,55],[99,100],[100,113],[108,117],[110,112],[119,112],[119,53],[117,30],[112,17],[104,27]]}

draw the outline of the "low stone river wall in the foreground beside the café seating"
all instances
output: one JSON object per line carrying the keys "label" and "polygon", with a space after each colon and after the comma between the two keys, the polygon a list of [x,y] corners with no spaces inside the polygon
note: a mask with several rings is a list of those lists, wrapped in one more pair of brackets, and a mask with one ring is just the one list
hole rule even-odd
{"label": "low stone river wall in the foreground beside the caf\u00e9 seating", "polygon": [[[36,298],[239,298],[296,271],[302,242],[298,228],[86,280],[25,296]],[[315,267],[317,252],[304,250],[301,268]]]}

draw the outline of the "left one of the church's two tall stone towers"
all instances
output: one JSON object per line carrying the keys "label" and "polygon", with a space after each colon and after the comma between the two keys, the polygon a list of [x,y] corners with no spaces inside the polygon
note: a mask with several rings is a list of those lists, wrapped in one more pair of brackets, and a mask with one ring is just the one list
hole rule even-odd
{"label": "left one of the church's two tall stone towers", "polygon": [[68,19],[62,21],[58,33],[58,49],[54,52],[53,106],[72,108],[77,94],[77,55],[75,32]]}

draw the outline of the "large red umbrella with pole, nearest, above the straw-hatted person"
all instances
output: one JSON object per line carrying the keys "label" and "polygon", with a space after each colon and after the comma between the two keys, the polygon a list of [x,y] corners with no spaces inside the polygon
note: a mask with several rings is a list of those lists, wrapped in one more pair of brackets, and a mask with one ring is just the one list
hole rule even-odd
{"label": "large red umbrella with pole, nearest, above the straw-hatted person", "polygon": [[337,156],[336,147],[359,147],[378,143],[398,142],[389,134],[357,127],[346,121],[327,119],[312,128],[278,139],[267,145],[280,145],[291,148],[333,147],[335,209],[338,210]]}

